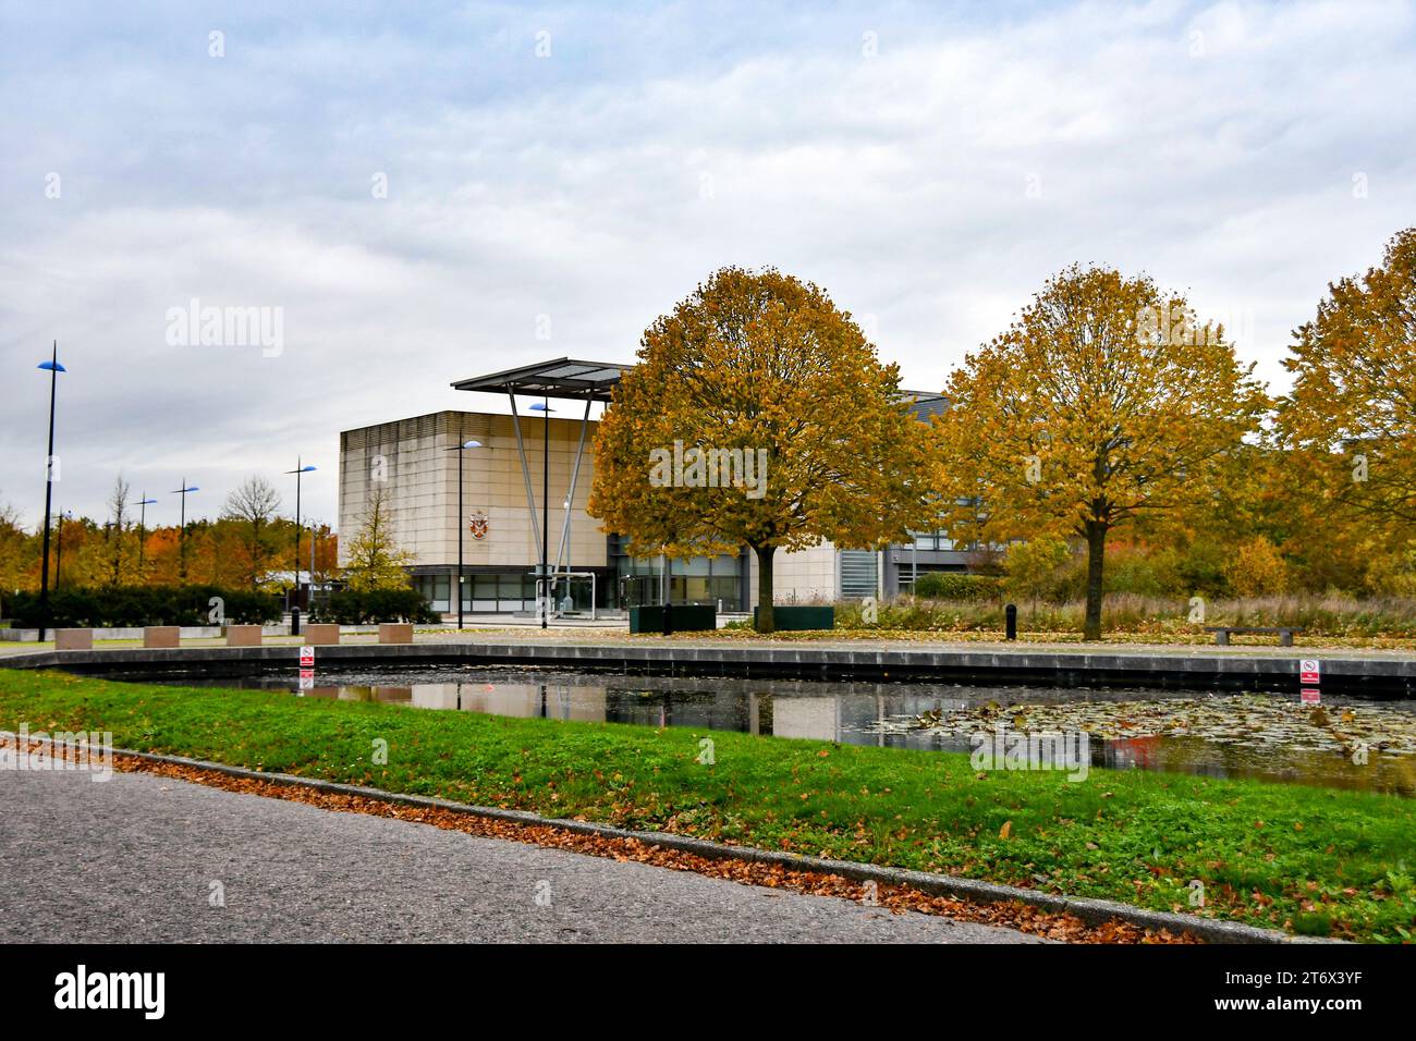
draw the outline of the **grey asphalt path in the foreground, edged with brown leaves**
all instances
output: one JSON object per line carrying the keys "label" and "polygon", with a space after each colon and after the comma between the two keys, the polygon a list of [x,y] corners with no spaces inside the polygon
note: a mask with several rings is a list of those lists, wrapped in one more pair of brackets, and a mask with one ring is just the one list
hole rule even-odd
{"label": "grey asphalt path in the foreground, edged with brown leaves", "polygon": [[0,770],[0,942],[1014,943],[150,773]]}

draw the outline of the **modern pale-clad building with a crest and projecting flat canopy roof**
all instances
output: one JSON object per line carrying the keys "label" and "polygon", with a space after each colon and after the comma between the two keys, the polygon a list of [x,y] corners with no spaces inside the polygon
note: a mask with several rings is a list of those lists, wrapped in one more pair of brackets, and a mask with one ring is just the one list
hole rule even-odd
{"label": "modern pale-clad building with a crest and projecting flat canopy roof", "polygon": [[[627,540],[602,531],[585,511],[595,476],[592,406],[609,401],[626,368],[569,358],[524,365],[453,384],[506,394],[508,415],[445,411],[344,431],[341,564],[381,494],[396,541],[412,558],[413,582],[435,610],[457,610],[459,531],[464,613],[535,612],[542,547],[556,576],[556,609],[615,610],[668,596],[750,610],[756,561],[746,550],[687,561],[634,557]],[[935,394],[912,398],[920,419],[944,404]],[[967,571],[971,559],[936,533],[884,551],[823,542],[779,554],[776,599],[892,596],[908,591],[918,574]]]}

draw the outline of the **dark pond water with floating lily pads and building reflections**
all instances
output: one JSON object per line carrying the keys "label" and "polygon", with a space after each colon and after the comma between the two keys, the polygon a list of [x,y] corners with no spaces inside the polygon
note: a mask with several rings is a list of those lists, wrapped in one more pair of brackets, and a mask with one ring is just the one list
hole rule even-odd
{"label": "dark pond water with floating lily pads and building reflections", "polygon": [[[129,680],[285,690],[299,697],[415,708],[722,729],[851,745],[969,752],[974,735],[1087,731],[1092,768],[1416,795],[1416,701],[1175,690],[573,674],[535,669],[321,669],[245,676],[164,673]],[[1361,748],[1362,753],[1357,753]]]}

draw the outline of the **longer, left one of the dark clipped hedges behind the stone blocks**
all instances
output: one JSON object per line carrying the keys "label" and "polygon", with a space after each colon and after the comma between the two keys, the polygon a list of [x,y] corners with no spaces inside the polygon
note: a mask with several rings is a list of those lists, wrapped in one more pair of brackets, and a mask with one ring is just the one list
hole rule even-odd
{"label": "longer, left one of the dark clipped hedges behind the stone blocks", "polygon": [[[211,599],[224,601],[224,619],[236,625],[279,622],[280,598],[249,589],[214,585],[113,586],[57,589],[50,593],[48,626],[52,629],[136,629],[140,626],[205,626]],[[38,629],[40,595],[16,593],[10,610],[17,629]]]}

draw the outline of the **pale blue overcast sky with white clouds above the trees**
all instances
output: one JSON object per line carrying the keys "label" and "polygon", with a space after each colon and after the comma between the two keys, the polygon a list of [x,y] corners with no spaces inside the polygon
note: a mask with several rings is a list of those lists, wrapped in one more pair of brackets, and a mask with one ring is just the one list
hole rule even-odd
{"label": "pale blue overcast sky with white clouds above the trees", "polygon": [[[0,1],[0,503],[113,476],[336,518],[338,432],[633,358],[724,263],[824,286],[937,389],[1072,261],[1148,272],[1286,387],[1416,224],[1416,8]],[[387,186],[387,187],[385,187]],[[202,344],[173,309],[259,307]],[[268,326],[275,331],[275,326]],[[545,339],[549,337],[549,339]],[[176,340],[176,343],[174,343]]]}

